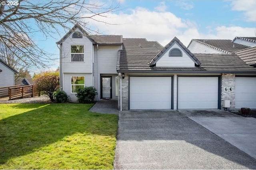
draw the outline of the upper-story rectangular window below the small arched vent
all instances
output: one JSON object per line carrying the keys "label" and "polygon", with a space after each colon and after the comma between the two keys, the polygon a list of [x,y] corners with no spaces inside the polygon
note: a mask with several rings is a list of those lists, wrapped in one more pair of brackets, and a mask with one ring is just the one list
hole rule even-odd
{"label": "upper-story rectangular window below the small arched vent", "polygon": [[84,45],[70,46],[71,62],[84,62]]}

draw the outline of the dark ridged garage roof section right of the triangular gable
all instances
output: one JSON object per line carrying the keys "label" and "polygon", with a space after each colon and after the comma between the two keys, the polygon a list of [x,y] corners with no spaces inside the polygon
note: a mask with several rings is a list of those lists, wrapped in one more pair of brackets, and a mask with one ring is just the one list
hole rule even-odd
{"label": "dark ridged garage roof section right of the triangular gable", "polygon": [[194,54],[207,71],[254,71],[256,68],[247,65],[236,54]]}

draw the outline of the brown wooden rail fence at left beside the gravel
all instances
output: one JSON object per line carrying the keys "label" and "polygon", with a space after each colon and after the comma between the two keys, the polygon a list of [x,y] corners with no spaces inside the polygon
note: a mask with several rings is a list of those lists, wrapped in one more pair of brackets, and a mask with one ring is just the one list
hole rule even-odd
{"label": "brown wooden rail fence at left beside the gravel", "polygon": [[0,87],[0,98],[8,97],[9,100],[12,100],[12,99],[40,96],[40,93],[36,93],[34,89],[35,89],[34,85],[29,85],[29,86],[15,85],[15,86]]}

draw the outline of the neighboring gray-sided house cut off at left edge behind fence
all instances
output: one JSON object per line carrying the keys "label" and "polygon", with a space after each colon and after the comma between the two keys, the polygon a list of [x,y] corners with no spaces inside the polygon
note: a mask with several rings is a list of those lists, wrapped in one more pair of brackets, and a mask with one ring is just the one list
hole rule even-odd
{"label": "neighboring gray-sided house cut off at left edge behind fence", "polygon": [[13,86],[14,74],[18,72],[0,59],[0,87]]}

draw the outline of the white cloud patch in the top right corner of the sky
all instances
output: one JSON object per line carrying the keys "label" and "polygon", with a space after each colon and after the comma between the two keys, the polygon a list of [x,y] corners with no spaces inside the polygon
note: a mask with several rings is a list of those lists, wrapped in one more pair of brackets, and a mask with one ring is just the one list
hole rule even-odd
{"label": "white cloud patch in the top right corner of the sky", "polygon": [[243,11],[246,21],[256,21],[256,0],[232,0],[232,10]]}

